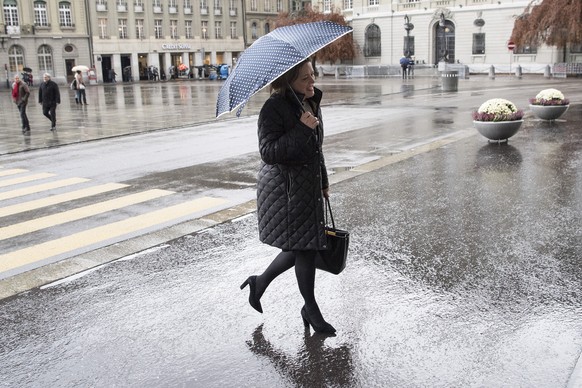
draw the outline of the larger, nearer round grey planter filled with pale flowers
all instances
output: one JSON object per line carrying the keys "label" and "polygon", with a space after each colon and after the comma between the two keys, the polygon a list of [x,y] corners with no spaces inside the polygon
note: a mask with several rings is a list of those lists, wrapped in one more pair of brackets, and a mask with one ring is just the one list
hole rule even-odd
{"label": "larger, nearer round grey planter filled with pale flowers", "polygon": [[504,98],[485,101],[473,112],[473,125],[489,140],[502,141],[515,135],[523,123],[523,110]]}

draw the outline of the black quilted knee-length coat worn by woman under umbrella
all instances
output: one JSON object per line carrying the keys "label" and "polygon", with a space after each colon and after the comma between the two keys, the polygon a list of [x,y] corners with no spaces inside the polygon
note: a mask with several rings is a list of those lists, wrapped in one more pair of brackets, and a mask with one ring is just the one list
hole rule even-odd
{"label": "black quilted knee-length coat worn by woman under umbrella", "polygon": [[292,92],[274,93],[259,114],[259,238],[283,250],[326,248],[322,188],[329,182],[321,151],[321,97],[316,89],[310,99],[320,122],[315,130],[299,120],[302,108]]}

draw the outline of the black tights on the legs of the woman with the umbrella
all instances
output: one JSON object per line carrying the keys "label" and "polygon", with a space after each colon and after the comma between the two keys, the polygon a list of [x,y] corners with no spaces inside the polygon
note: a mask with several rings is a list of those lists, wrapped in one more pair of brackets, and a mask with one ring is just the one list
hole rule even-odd
{"label": "black tights on the legs of the woman with the umbrella", "polygon": [[315,258],[317,251],[283,251],[275,257],[265,272],[257,276],[257,291],[260,298],[269,284],[283,272],[295,266],[295,276],[299,292],[308,309],[316,308],[315,302]]}

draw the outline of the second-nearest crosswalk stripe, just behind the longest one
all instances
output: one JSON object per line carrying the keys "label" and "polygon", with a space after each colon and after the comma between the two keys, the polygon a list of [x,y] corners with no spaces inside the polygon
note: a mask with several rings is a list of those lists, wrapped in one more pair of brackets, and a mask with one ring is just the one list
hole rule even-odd
{"label": "second-nearest crosswalk stripe, just behind the longest one", "polygon": [[37,230],[50,228],[67,222],[77,221],[83,218],[91,217],[111,210],[120,209],[130,205],[135,205],[141,202],[146,202],[170,194],[174,193],[172,191],[159,189],[147,190],[140,193],[129,194],[123,197],[110,199],[108,201],[99,202],[93,205],[67,210],[61,213],[51,214],[49,216],[36,218],[34,220],[5,226],[0,228],[0,240],[9,239],[26,233],[36,232]]}

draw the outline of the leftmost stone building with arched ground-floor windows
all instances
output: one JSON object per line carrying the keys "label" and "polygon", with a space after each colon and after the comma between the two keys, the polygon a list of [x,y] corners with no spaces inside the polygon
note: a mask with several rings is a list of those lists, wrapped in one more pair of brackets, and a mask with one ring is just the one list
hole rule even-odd
{"label": "leftmost stone building with arched ground-floor windows", "polygon": [[24,68],[36,81],[47,72],[65,82],[73,66],[89,65],[85,1],[1,1],[0,63],[7,83]]}

